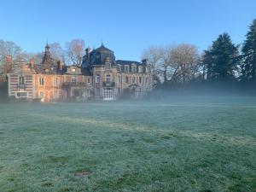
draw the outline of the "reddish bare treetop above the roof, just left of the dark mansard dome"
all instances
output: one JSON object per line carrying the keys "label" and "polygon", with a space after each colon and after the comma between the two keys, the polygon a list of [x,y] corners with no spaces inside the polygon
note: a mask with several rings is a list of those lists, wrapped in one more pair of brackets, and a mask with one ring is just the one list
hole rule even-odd
{"label": "reddish bare treetop above the roof, just left of the dark mansard dome", "polygon": [[67,42],[67,60],[73,62],[73,65],[81,66],[84,55],[84,40],[73,39]]}

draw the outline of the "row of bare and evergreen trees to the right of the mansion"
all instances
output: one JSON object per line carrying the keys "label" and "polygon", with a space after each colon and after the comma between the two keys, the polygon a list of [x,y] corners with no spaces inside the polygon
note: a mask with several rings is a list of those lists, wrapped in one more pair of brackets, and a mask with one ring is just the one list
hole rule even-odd
{"label": "row of bare and evergreen trees to the right of the mansion", "polygon": [[196,82],[256,83],[256,20],[242,44],[220,34],[200,52],[194,44],[150,46],[143,52],[151,68],[154,85],[172,87]]}

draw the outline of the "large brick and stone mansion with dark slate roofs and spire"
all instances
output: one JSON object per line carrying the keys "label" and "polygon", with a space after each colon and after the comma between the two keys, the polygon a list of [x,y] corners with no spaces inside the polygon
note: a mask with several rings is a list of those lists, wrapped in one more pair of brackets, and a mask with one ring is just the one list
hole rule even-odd
{"label": "large brick and stone mansion with dark slate roofs and spire", "polygon": [[26,63],[20,58],[8,79],[9,96],[42,102],[139,98],[152,89],[146,61],[116,61],[113,51],[103,45],[86,49],[80,67],[54,61],[46,45],[42,63]]}

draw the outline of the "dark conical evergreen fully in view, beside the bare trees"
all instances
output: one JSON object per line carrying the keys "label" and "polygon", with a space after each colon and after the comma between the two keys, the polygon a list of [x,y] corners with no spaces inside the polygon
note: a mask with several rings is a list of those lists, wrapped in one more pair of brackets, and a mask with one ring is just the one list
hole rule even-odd
{"label": "dark conical evergreen fully in view, beside the bare trees", "polygon": [[204,63],[207,66],[207,79],[236,79],[239,51],[238,46],[232,44],[228,33],[219,35],[212,42],[212,47],[205,50]]}

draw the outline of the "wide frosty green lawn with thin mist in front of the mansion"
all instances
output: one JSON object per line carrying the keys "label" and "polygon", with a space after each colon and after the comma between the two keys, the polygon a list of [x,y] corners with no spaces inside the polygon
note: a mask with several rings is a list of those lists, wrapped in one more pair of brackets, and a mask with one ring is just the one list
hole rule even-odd
{"label": "wide frosty green lawn with thin mist in front of the mansion", "polygon": [[256,98],[0,104],[0,191],[256,191]]}

